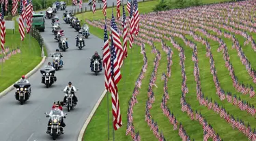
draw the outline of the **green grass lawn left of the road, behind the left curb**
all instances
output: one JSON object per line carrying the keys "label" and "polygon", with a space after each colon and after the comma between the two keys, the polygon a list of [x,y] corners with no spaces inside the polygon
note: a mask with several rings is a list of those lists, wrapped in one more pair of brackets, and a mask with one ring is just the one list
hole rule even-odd
{"label": "green grass lawn left of the road, behind the left curb", "polygon": [[16,49],[20,47],[21,53],[15,54],[1,63],[0,71],[0,92],[16,82],[22,75],[29,73],[42,60],[41,48],[38,41],[29,38],[26,34],[25,40],[20,41],[20,33],[18,32],[18,22],[15,20],[15,33],[12,30],[6,30],[5,47]]}

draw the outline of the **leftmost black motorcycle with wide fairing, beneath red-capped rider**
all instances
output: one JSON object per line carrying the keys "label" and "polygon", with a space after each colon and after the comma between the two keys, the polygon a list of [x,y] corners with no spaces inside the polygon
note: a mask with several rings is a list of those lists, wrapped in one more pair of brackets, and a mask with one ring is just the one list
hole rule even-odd
{"label": "leftmost black motorcycle with wide fairing, beneath red-capped rider", "polygon": [[16,88],[15,98],[23,105],[27,100],[29,100],[29,87],[30,83],[15,83],[14,87]]}

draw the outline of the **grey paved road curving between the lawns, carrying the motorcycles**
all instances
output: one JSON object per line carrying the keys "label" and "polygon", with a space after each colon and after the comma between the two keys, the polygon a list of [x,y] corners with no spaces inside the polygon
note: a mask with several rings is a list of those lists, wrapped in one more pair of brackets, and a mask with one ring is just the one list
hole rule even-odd
{"label": "grey paved road curving between the lawns, carrying the motorcycles", "polygon": [[[109,5],[112,2],[113,0],[108,1]],[[67,9],[72,9],[72,7]],[[61,11],[57,12],[59,18],[62,18],[62,14]],[[57,140],[75,141],[83,123],[100,98],[104,90],[104,73],[102,72],[98,76],[91,73],[88,57],[91,57],[95,51],[102,54],[103,41],[90,35],[89,39],[85,39],[86,46],[79,50],[75,46],[74,39],[77,32],[70,25],[64,24],[63,20],[60,22],[61,28],[65,31],[64,34],[68,37],[70,48],[66,52],[62,52],[64,66],[56,73],[57,82],[47,89],[41,83],[41,74],[38,71],[29,78],[32,94],[24,105],[20,105],[14,98],[15,90],[0,98],[0,141],[52,140],[51,136],[46,134],[48,118],[45,117],[44,112],[49,113],[54,101],[63,100],[64,94],[61,89],[68,84],[68,81],[72,81],[73,85],[79,88],[79,92],[76,93],[79,102],[70,113],[66,107],[63,107],[64,113],[68,113],[64,120],[66,127],[64,134]],[[51,30],[51,20],[46,19],[46,31],[42,33],[42,37],[48,48],[48,54],[57,49],[57,42],[53,39]],[[51,61],[51,57],[46,60],[46,62]]]}

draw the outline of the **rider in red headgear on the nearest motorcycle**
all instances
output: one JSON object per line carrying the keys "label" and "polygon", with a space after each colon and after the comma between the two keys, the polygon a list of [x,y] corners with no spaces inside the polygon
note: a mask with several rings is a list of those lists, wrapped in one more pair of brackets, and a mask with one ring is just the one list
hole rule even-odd
{"label": "rider in red headgear on the nearest motorcycle", "polygon": [[63,128],[66,127],[66,124],[63,121],[63,118],[66,118],[66,116],[64,115],[63,111],[61,110],[62,107],[60,109],[59,105],[55,104],[55,102],[53,103],[53,107],[55,107],[55,108],[52,108],[51,112],[48,115],[46,115],[46,117],[50,117],[49,121],[48,121],[48,127],[47,127],[46,134],[50,134],[51,133],[51,125],[50,125],[50,123],[51,123],[51,116],[53,116],[53,110],[60,110],[61,117],[62,117],[61,118],[61,128],[60,129],[61,129],[62,133],[63,133],[63,130],[64,130]]}

